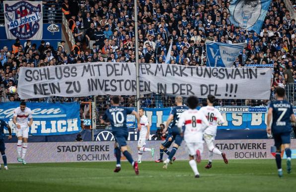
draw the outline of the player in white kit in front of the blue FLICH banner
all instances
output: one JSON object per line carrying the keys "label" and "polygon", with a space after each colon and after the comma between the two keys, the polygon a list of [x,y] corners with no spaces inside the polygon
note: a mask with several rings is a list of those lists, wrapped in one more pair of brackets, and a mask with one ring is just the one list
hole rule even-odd
{"label": "player in white kit in front of the blue FLICH banner", "polygon": [[[30,121],[28,121],[28,118]],[[20,106],[14,109],[12,121],[16,125],[17,161],[26,165],[25,156],[28,147],[29,127],[33,123],[33,117],[31,109],[26,107],[25,102],[21,102]]]}

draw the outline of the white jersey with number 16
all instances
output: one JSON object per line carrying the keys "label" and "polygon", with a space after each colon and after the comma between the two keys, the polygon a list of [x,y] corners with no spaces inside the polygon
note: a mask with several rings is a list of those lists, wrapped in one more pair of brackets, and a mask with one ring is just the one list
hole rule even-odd
{"label": "white jersey with number 16", "polygon": [[205,134],[216,136],[218,123],[223,124],[225,122],[221,112],[214,106],[204,106],[200,111],[210,123],[210,126],[205,130]]}

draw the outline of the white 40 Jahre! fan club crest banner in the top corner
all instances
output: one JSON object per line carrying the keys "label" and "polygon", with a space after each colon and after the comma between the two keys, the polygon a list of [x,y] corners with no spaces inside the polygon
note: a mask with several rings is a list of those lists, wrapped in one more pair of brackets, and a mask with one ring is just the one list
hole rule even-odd
{"label": "white 40 Jahre! fan club crest banner in the top corner", "polygon": [[42,1],[4,0],[7,39],[42,39]]}

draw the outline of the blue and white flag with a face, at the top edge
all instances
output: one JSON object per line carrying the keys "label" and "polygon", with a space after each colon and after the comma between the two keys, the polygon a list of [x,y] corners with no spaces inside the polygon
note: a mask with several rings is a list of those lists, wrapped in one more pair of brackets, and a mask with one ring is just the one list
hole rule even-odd
{"label": "blue and white flag with a face, at the top edge", "polygon": [[232,0],[230,1],[230,21],[249,31],[260,33],[271,0]]}

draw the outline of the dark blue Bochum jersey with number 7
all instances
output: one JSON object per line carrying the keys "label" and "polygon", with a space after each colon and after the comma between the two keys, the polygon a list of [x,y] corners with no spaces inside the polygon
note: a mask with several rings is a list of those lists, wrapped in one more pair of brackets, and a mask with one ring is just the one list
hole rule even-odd
{"label": "dark blue Bochum jersey with number 7", "polygon": [[291,132],[291,115],[294,114],[293,107],[286,100],[275,100],[269,105],[272,108],[273,133]]}

